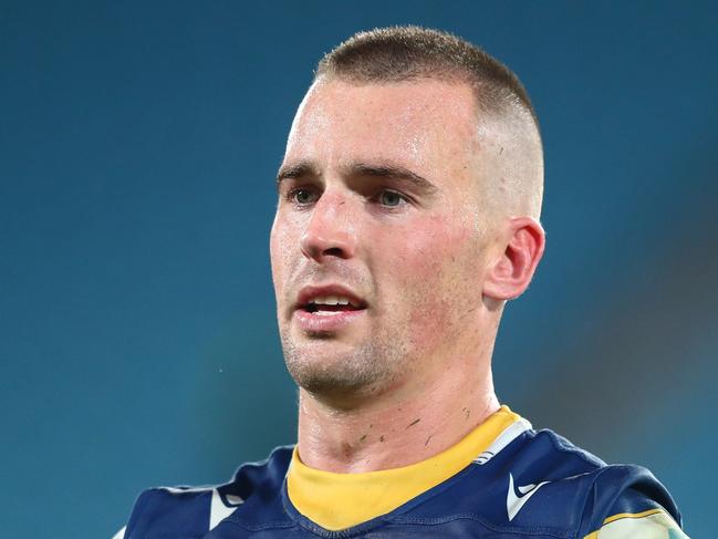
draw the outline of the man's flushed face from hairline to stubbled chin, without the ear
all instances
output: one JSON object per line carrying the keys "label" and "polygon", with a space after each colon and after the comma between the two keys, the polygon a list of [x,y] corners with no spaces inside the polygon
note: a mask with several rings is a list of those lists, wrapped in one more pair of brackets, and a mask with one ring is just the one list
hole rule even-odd
{"label": "man's flushed face from hairline to stubbled chin, without the ear", "polygon": [[310,89],[271,232],[279,329],[300,386],[402,391],[476,353],[490,175],[476,117],[462,84]]}

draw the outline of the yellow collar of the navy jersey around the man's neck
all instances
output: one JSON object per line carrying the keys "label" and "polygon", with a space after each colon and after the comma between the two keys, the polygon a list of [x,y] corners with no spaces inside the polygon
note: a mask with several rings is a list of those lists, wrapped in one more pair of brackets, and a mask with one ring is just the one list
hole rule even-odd
{"label": "yellow collar of the navy jersey around the man's neck", "polygon": [[501,406],[461,442],[438,455],[402,468],[335,474],[313,469],[294,448],[287,476],[292,504],[329,530],[341,530],[386,515],[466,468],[519,415]]}

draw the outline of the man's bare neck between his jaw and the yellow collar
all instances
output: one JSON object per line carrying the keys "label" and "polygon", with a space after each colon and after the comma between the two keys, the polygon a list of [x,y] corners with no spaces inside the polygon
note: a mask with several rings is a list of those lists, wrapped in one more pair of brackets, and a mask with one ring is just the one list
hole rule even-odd
{"label": "man's bare neck between his jaw and the yellow collar", "polygon": [[471,363],[455,362],[430,382],[394,387],[352,406],[300,390],[301,460],[326,471],[363,473],[408,466],[448,449],[499,408],[489,362],[474,371]]}

